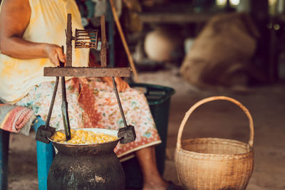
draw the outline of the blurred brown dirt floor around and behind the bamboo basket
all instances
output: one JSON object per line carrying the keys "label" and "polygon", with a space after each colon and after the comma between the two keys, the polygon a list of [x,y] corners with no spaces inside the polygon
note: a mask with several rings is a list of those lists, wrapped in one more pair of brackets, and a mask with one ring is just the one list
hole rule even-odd
{"label": "blurred brown dirt floor around and behind the bamboo basket", "polygon": [[[177,131],[185,112],[204,97],[226,95],[249,109],[254,119],[254,172],[247,189],[285,189],[285,87],[284,84],[260,86],[239,92],[203,91],[182,80],[177,70],[141,73],[144,83],[175,88],[172,96],[167,135],[165,179],[179,184],[174,164]],[[36,174],[36,142],[30,137],[11,135],[9,154],[9,189],[38,189]],[[182,139],[222,137],[247,142],[247,117],[231,102],[209,102],[190,116]]]}

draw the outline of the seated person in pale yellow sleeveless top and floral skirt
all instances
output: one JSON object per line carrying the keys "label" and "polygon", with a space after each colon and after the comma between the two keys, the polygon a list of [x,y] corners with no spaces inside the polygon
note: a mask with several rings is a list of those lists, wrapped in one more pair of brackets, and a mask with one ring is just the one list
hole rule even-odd
{"label": "seated person in pale yellow sleeveless top and floral skirt", "polygon": [[[72,14],[73,33],[83,29],[74,0],[4,0],[0,12],[0,98],[4,102],[31,108],[46,120],[55,77],[43,77],[43,68],[65,63],[61,46],[66,43],[67,14]],[[88,66],[88,49],[73,48],[73,66]],[[119,158],[138,157],[144,189],[166,189],[155,162],[154,145],[160,137],[143,93],[115,78],[125,117],[135,126],[137,139],[118,144]],[[59,84],[60,85],[60,84]],[[59,87],[60,88],[60,87]],[[123,127],[110,78],[67,78],[66,94],[71,128]],[[61,90],[58,90],[51,126],[63,129]]]}

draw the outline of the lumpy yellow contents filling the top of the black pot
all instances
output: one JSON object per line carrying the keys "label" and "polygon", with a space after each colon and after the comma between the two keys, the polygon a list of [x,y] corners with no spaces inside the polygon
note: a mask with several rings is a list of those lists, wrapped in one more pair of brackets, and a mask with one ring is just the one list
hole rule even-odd
{"label": "lumpy yellow contents filling the top of the black pot", "polygon": [[[55,142],[66,142],[66,134],[56,132],[51,139]],[[71,130],[71,139],[68,140],[69,144],[96,144],[109,142],[118,139],[111,134],[95,134],[95,132],[88,130]]]}

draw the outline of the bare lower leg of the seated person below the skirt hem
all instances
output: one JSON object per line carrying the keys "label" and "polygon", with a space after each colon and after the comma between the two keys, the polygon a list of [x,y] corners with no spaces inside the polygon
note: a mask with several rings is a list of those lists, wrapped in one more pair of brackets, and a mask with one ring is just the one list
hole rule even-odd
{"label": "bare lower leg of the seated person below the skirt hem", "polygon": [[135,152],[143,176],[143,189],[166,189],[169,185],[157,170],[155,147],[146,147]]}

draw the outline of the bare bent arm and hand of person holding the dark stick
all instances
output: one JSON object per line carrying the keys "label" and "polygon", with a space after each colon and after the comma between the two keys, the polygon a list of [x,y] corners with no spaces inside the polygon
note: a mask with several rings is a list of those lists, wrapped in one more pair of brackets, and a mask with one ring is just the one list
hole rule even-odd
{"label": "bare bent arm and hand of person holding the dark stick", "polygon": [[22,38],[30,17],[28,0],[4,0],[0,14],[1,53],[19,59],[49,58],[53,65],[59,65],[58,59],[65,63],[60,46],[33,43]]}

